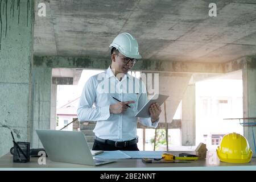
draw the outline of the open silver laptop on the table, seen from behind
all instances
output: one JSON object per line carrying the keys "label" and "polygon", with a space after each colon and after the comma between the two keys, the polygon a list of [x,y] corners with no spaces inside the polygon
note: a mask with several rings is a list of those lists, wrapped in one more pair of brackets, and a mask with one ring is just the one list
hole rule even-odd
{"label": "open silver laptop on the table, seen from behind", "polygon": [[36,130],[48,158],[56,162],[99,166],[115,160],[93,159],[81,131]]}

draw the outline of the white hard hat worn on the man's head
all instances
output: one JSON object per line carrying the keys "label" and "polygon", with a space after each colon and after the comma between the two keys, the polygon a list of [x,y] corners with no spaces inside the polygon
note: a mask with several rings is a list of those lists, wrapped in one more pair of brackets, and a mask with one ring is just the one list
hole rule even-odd
{"label": "white hard hat worn on the man's head", "polygon": [[141,59],[137,40],[127,32],[119,34],[114,38],[110,47],[117,48],[126,57]]}

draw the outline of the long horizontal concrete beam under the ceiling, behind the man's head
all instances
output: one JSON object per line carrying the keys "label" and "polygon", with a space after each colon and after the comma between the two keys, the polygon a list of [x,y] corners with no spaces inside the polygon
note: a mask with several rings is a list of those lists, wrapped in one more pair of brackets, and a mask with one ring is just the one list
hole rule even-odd
{"label": "long horizontal concrete beam under the ceiling, behind the man's head", "polygon": [[[92,57],[34,56],[35,67],[106,69],[110,59]],[[222,64],[180,61],[139,60],[134,71],[177,73],[224,73]]]}

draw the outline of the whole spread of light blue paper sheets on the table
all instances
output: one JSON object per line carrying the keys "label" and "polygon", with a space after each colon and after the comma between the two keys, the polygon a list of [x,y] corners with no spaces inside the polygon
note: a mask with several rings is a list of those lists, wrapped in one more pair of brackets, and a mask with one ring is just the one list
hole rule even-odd
{"label": "whole spread of light blue paper sheets on the table", "polygon": [[142,158],[162,158],[163,151],[104,151],[96,158],[101,159],[142,159]]}

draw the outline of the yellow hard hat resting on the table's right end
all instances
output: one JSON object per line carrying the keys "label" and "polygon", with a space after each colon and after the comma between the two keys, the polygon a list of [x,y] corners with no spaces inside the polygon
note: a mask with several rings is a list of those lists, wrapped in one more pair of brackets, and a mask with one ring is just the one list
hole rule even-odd
{"label": "yellow hard hat resting on the table's right end", "polygon": [[217,148],[218,158],[227,163],[249,163],[253,151],[246,138],[237,133],[225,135]]}

